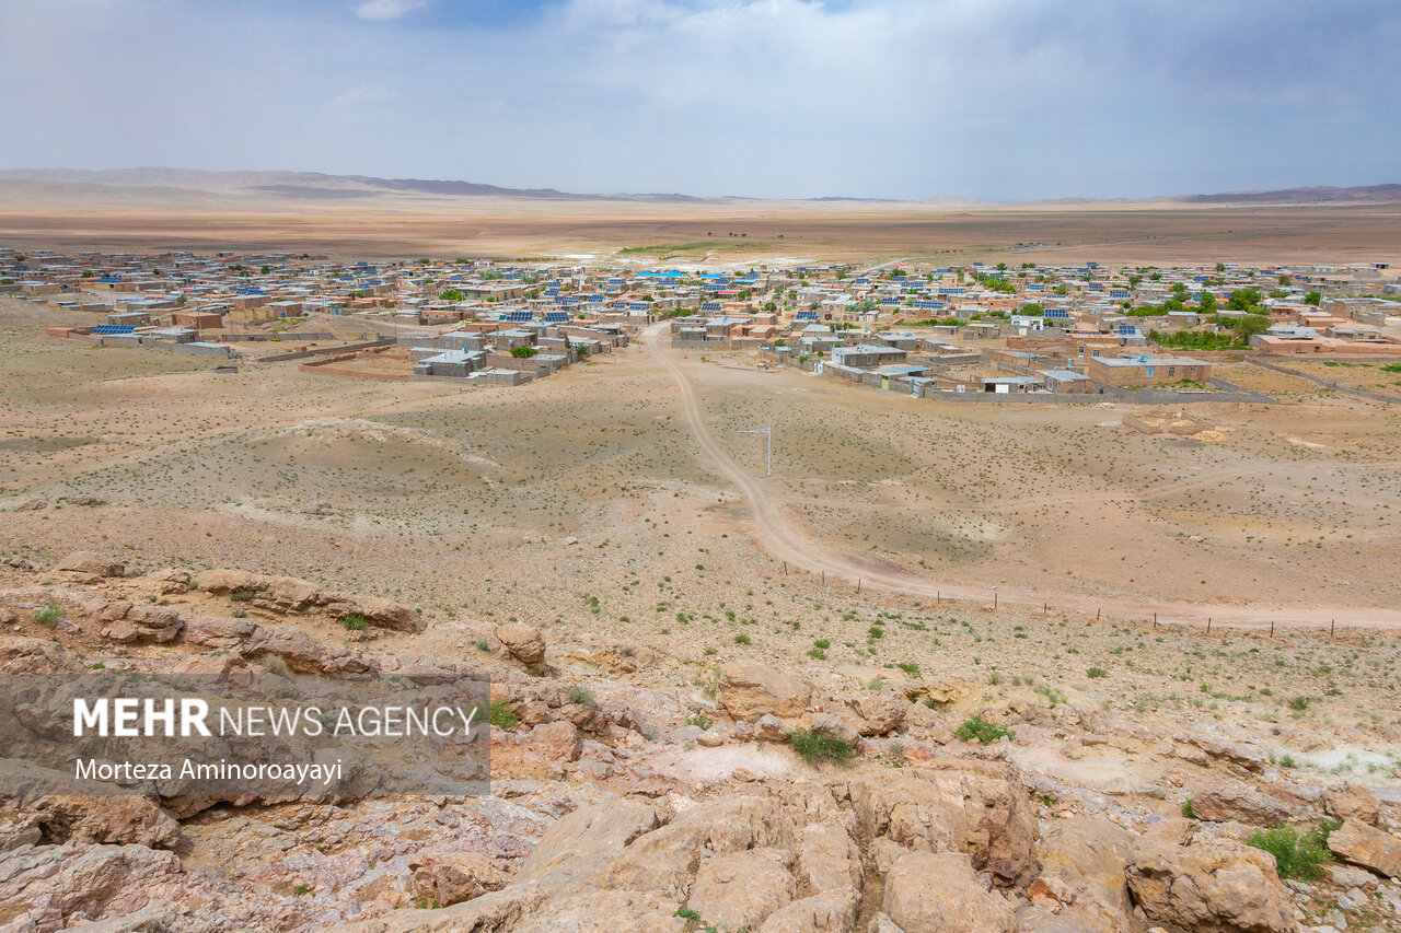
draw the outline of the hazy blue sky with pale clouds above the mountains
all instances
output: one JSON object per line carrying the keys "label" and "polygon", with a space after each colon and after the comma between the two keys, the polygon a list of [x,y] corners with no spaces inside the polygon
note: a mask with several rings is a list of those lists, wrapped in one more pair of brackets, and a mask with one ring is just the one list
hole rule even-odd
{"label": "hazy blue sky with pale clouds above the mountains", "polygon": [[1397,0],[0,0],[0,168],[1013,202],[1401,182]]}

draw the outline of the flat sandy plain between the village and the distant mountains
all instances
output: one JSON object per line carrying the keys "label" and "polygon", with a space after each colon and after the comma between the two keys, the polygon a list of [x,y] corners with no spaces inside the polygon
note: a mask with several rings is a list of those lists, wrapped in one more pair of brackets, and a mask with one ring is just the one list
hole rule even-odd
{"label": "flat sandy plain between the village and the distant mountains", "polygon": [[[134,200],[133,200],[134,198]],[[943,207],[863,202],[374,202],[77,198],[11,191],[0,242],[69,249],[293,249],[346,258],[559,256],[748,265],[1401,261],[1401,207],[1154,205]]]}

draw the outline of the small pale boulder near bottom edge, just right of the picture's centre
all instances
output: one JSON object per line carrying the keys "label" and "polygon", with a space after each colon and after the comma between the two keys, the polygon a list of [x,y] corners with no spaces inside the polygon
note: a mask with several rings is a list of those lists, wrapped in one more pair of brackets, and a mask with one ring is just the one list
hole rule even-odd
{"label": "small pale boulder near bottom edge, just right of the picture's centre", "polygon": [[793,899],[787,860],[778,849],[750,849],[706,862],[696,871],[686,906],[712,926],[754,929]]}

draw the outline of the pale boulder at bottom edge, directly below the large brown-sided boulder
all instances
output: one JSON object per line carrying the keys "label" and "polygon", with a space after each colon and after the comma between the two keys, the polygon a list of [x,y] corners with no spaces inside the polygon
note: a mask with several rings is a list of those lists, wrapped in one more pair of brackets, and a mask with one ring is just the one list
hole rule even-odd
{"label": "pale boulder at bottom edge, directly below the large brown-sided boulder", "polygon": [[905,933],[1013,933],[1017,915],[978,884],[968,856],[909,852],[885,874],[881,911]]}

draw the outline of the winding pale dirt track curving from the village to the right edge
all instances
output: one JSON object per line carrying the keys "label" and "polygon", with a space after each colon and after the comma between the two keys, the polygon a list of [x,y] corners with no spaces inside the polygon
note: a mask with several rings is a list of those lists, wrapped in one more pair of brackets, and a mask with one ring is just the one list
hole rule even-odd
{"label": "winding pale dirt track curving from the village to the right edge", "polygon": [[[782,514],[780,507],[769,499],[759,479],[724,452],[716,443],[715,436],[710,434],[695,385],[691,384],[691,380],[677,361],[677,354],[664,346],[668,328],[670,324],[665,321],[649,328],[644,332],[647,349],[667,368],[677,388],[681,391],[681,410],[696,441],[700,444],[700,450],[744,493],[750,507],[750,518],[754,524],[754,535],[765,551],[778,560],[786,560],[810,573],[822,573],[828,580],[848,586],[856,586],[860,581],[863,587],[877,587],[916,597],[941,594],[953,600],[976,602],[991,602],[993,600],[993,590],[988,587],[969,587],[947,580],[932,580],[905,569],[873,567],[859,558],[813,541],[793,528]],[[723,373],[723,370],[719,371]],[[1033,593],[1002,587],[996,590],[996,594],[999,605],[1041,607],[1049,604],[1056,609],[1070,612],[1096,612],[1103,609],[1110,616],[1128,619],[1147,619],[1157,614],[1160,621],[1175,623],[1206,625],[1208,619],[1212,619],[1223,625],[1251,628],[1268,626],[1271,622],[1279,626],[1327,628],[1332,619],[1337,619],[1339,625],[1349,626],[1401,628],[1401,612],[1394,609],[1146,602],[1098,598],[1075,593]]]}

